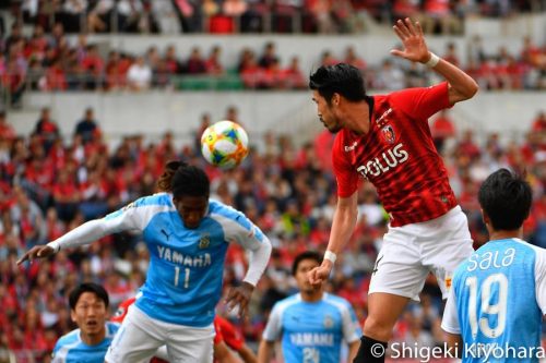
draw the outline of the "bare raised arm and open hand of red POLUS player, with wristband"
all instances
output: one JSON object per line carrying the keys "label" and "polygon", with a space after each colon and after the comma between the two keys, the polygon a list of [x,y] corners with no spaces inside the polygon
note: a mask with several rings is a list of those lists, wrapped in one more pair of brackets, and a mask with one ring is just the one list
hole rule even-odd
{"label": "bare raised arm and open hand of red POLUS player, with wristband", "polygon": [[399,20],[393,28],[402,40],[404,49],[393,49],[391,53],[412,62],[423,63],[442,75],[449,83],[449,101],[451,105],[472,98],[477,93],[478,85],[476,81],[454,64],[428,50],[419,22],[414,24],[406,17],[405,20]]}

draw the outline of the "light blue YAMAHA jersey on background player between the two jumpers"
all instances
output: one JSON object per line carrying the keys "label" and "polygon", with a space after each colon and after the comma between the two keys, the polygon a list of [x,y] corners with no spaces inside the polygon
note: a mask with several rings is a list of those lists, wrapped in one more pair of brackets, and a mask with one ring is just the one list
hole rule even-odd
{"label": "light blue YAMAHA jersey on background player between the two jumpers", "polygon": [[263,339],[275,341],[282,336],[286,363],[337,363],[342,341],[354,342],[360,335],[345,299],[324,293],[320,301],[305,302],[298,293],[273,306]]}

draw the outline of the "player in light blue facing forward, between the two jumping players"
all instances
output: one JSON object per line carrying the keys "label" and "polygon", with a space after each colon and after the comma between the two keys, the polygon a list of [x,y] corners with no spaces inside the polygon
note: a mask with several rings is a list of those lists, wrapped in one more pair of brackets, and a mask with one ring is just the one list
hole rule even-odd
{"label": "player in light blue facing forward, between the two jumping players", "polygon": [[258,362],[269,363],[275,341],[281,339],[286,363],[339,363],[343,341],[349,358],[356,355],[361,330],[353,307],[345,299],[313,287],[307,273],[320,266],[316,252],[296,256],[292,273],[299,293],[277,302],[271,312],[258,350]]}

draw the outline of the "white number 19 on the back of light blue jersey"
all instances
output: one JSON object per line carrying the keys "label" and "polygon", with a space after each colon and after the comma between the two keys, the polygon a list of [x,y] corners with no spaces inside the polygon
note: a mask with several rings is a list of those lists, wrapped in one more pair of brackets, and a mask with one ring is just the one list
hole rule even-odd
{"label": "white number 19 on the back of light blue jersey", "polygon": [[[492,285],[498,286],[498,301],[489,304]],[[466,279],[466,286],[471,289],[468,297],[468,320],[471,323],[472,336],[476,337],[477,331],[488,338],[496,338],[502,335],[507,323],[507,301],[508,301],[508,279],[503,274],[488,276],[482,282],[482,313],[497,315],[497,326],[489,326],[487,317],[477,319],[477,277],[472,276]]]}

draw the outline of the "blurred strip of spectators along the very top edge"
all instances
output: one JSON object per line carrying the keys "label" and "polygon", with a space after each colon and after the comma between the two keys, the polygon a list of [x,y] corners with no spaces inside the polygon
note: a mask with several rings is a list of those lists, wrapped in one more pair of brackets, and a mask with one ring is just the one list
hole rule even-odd
{"label": "blurred strip of spectators along the very top edge", "polygon": [[419,19],[427,33],[462,32],[466,16],[506,17],[543,0],[11,0],[11,12],[71,33],[354,33],[369,21]]}

